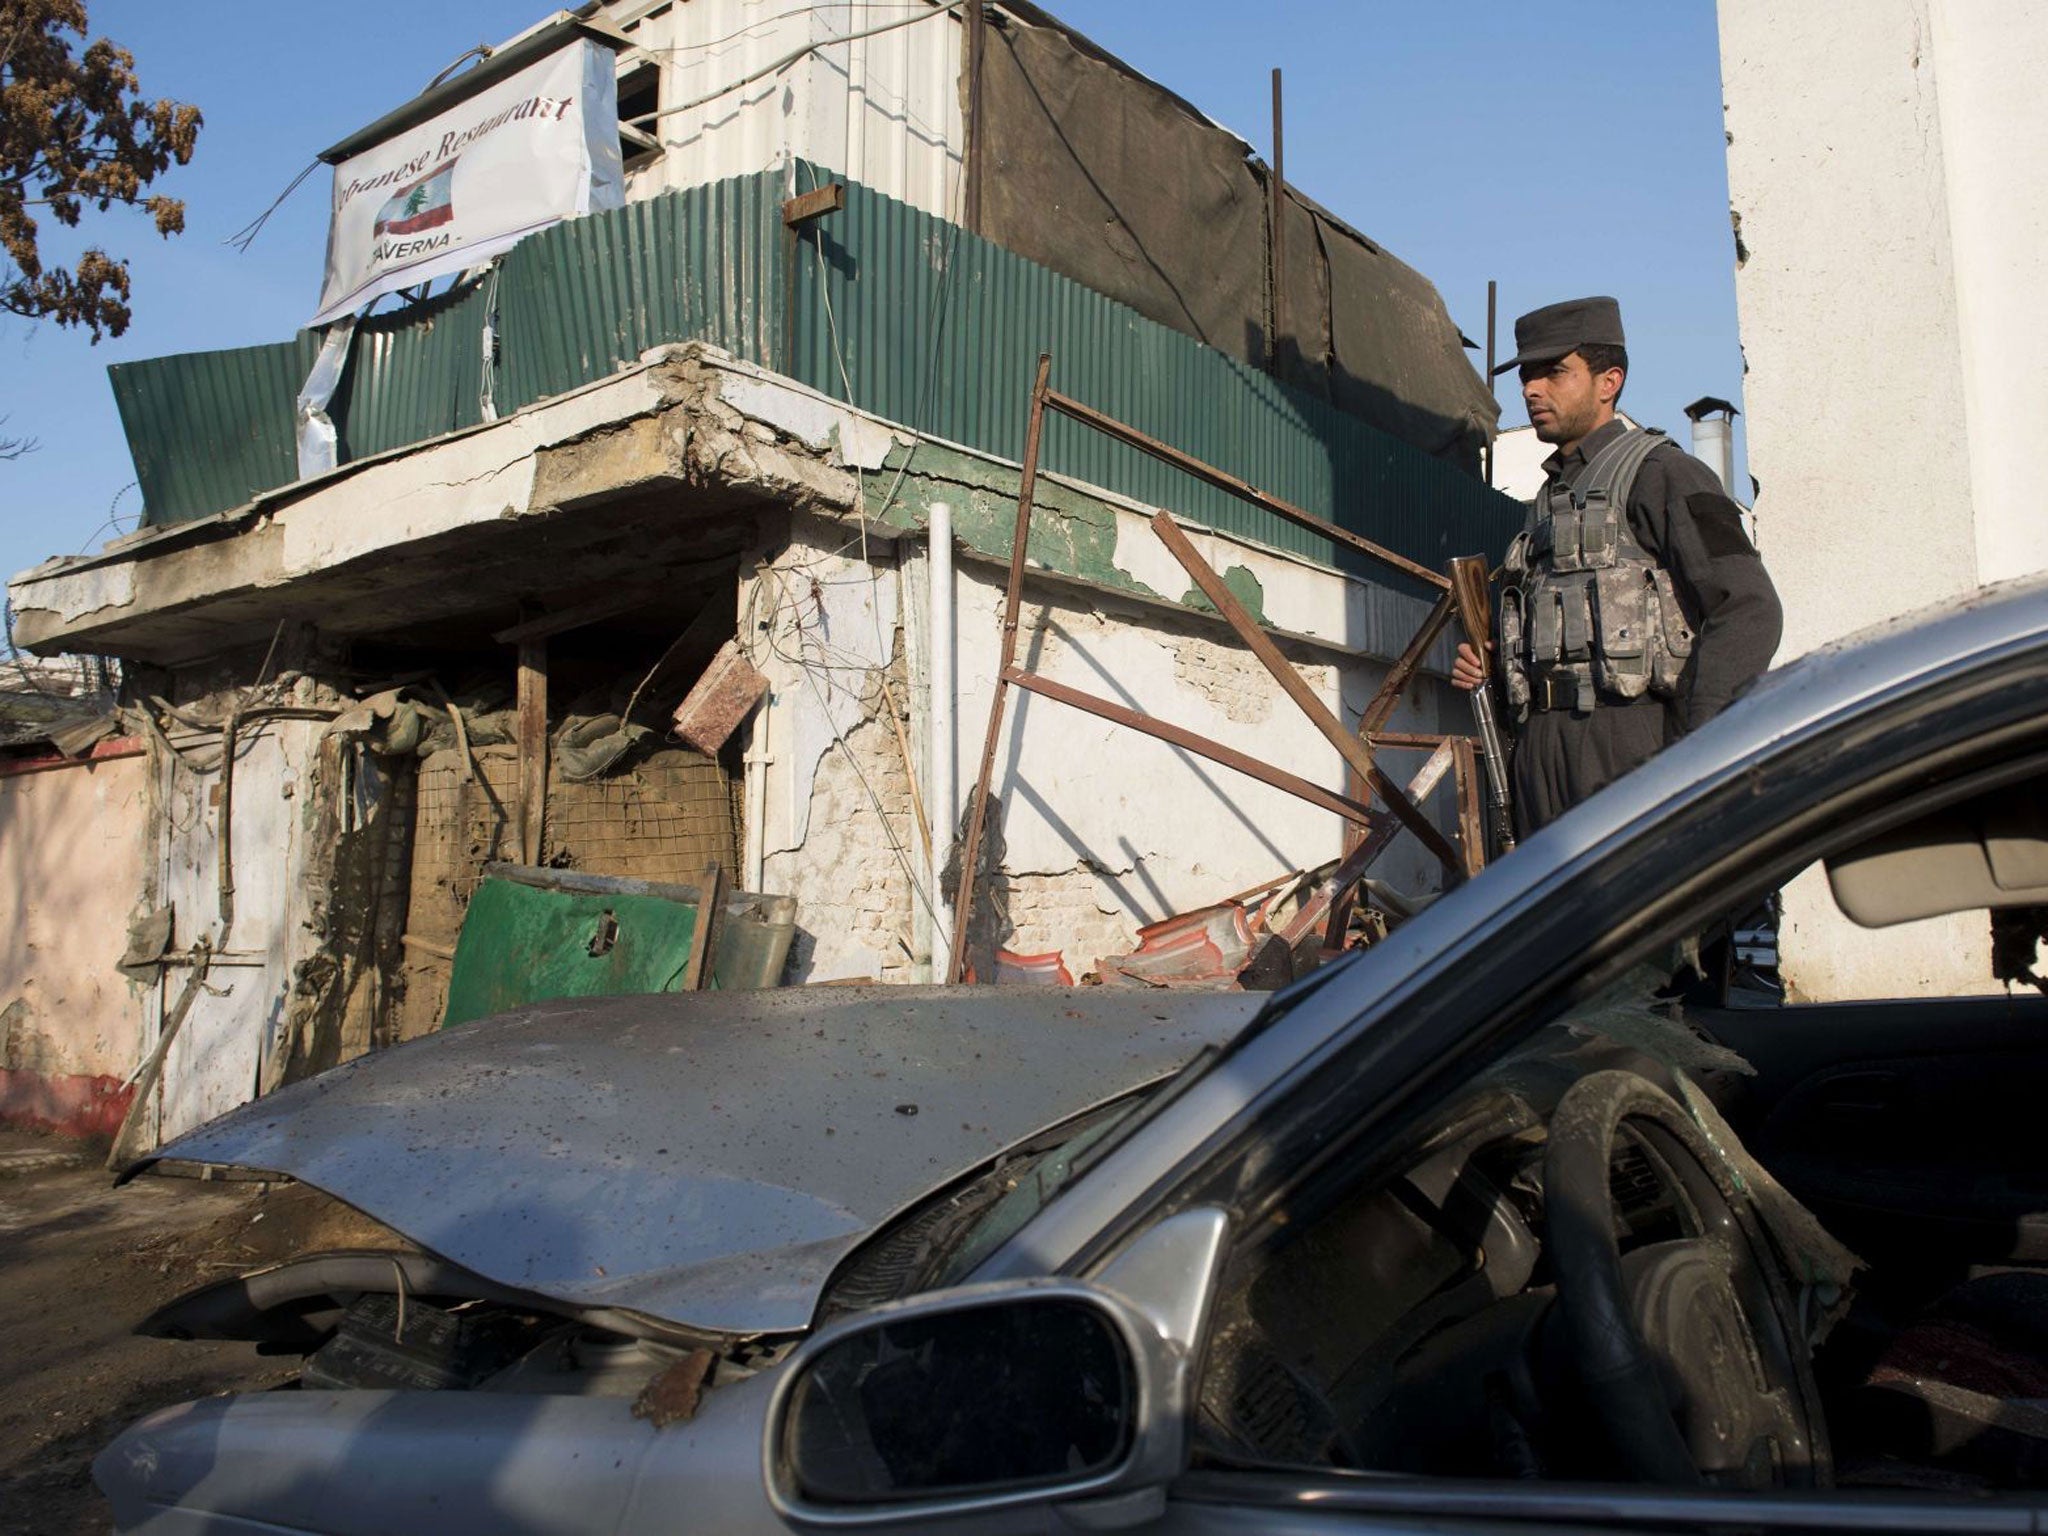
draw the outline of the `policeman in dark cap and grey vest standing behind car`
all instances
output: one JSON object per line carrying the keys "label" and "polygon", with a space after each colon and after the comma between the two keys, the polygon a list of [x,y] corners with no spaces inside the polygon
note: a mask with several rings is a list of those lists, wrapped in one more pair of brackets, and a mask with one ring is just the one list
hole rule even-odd
{"label": "policeman in dark cap and grey vest standing behind car", "polygon": [[[1784,614],[1714,471],[1616,418],[1628,352],[1614,299],[1522,315],[1495,373],[1507,369],[1536,436],[1556,444],[1501,592],[1528,836],[1726,709],[1769,666]],[[1483,678],[1460,645],[1452,682]]]}

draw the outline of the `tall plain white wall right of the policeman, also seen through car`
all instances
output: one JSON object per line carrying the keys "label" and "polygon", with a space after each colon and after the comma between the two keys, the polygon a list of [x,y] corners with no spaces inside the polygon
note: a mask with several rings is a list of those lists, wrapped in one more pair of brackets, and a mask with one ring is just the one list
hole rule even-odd
{"label": "tall plain white wall right of the policeman, also seen through car", "polygon": [[[2048,10],[1720,0],[1757,535],[1780,659],[2048,567]],[[1989,989],[1980,918],[1870,936],[1788,891],[1810,997]]]}

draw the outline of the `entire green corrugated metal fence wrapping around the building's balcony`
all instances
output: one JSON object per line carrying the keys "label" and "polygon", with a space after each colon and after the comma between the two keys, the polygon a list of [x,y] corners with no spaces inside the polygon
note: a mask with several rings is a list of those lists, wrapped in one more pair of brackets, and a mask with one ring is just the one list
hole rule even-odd
{"label": "entire green corrugated metal fence wrapping around the building's balcony", "polygon": [[[709,340],[889,420],[1016,459],[1032,365],[1051,350],[1065,393],[1413,559],[1440,565],[1495,551],[1520,526],[1513,502],[1450,465],[879,193],[848,186],[842,211],[791,242],[782,190],[774,172],[741,176],[573,219],[516,246],[496,289],[498,410],[602,379],[649,346]],[[469,287],[365,322],[334,403],[344,459],[479,420],[487,299]],[[313,338],[301,334],[274,348],[115,369],[147,522],[203,516],[287,483],[291,401],[311,360]],[[195,442],[201,453],[188,451]],[[1044,463],[1217,528],[1333,557],[1325,541],[1067,420],[1049,422]],[[1354,561],[1346,553],[1337,563]]]}

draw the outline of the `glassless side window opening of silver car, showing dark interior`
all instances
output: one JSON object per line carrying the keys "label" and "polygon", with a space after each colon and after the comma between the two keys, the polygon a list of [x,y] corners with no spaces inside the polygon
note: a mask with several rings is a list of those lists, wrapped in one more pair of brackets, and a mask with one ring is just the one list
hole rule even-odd
{"label": "glassless side window opening of silver car, showing dark interior", "polygon": [[[2036,1442],[1989,1425],[2048,1384],[2048,1151],[1999,1130],[2032,1122],[2015,1083],[2048,1081],[2048,999],[1729,1010],[1698,965],[1638,967],[1266,1208],[1210,1313],[1194,1466],[2038,1485]],[[1655,1112],[1614,1116],[1567,1190],[1561,1147],[1616,1081]],[[1573,1202],[1608,1239],[1602,1325],[1632,1339],[1665,1477],[1602,1401]]]}

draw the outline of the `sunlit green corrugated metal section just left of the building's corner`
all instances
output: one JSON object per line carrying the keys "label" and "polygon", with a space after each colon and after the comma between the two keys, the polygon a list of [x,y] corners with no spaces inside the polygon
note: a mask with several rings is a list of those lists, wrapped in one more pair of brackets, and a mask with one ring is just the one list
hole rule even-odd
{"label": "sunlit green corrugated metal section just left of the building's corner", "polygon": [[782,326],[780,178],[741,176],[557,223],[504,262],[500,410],[707,340],[766,362]]}

